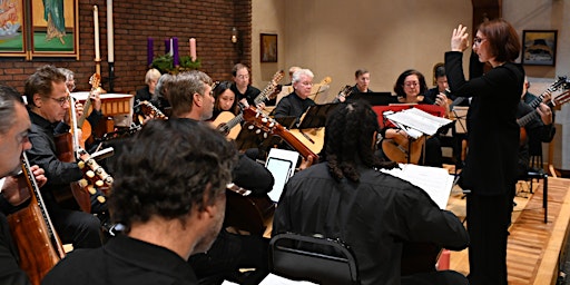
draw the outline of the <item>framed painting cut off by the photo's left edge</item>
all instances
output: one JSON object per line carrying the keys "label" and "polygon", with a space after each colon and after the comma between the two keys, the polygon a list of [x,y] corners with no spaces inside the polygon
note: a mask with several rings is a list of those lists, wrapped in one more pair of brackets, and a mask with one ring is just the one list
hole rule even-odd
{"label": "framed painting cut off by the photo's left edge", "polygon": [[27,56],[24,0],[0,1],[0,56]]}

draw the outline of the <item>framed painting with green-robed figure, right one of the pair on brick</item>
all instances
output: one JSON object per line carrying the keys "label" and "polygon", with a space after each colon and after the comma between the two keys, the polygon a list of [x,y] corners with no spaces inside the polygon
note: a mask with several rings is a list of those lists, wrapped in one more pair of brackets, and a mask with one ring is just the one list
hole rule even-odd
{"label": "framed painting with green-robed figure, right one of the pair on brick", "polygon": [[79,59],[78,0],[31,0],[31,57]]}

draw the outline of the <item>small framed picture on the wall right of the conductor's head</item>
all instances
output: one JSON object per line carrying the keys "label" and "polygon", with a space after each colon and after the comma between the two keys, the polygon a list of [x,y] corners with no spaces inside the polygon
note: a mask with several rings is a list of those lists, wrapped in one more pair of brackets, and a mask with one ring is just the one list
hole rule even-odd
{"label": "small framed picture on the wall right of the conductor's head", "polygon": [[557,30],[523,30],[521,62],[527,66],[554,66]]}

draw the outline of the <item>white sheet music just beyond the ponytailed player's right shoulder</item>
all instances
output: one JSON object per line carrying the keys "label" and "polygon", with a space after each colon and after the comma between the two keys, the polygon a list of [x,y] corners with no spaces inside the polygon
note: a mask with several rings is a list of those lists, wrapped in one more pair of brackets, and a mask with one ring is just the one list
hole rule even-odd
{"label": "white sheet music just beyond the ponytailed player's right shoulder", "polygon": [[381,171],[422,188],[438,204],[440,209],[448,207],[451,188],[453,187],[453,176],[446,169],[411,164],[400,164],[400,168],[381,169]]}

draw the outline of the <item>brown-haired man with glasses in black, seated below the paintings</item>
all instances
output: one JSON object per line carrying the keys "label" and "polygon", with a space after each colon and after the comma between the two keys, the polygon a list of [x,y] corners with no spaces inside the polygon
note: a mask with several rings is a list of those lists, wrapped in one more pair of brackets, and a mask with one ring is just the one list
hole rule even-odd
{"label": "brown-haired man with glasses in black, seated below the paintings", "polygon": [[[99,247],[100,220],[92,214],[63,208],[53,194],[82,178],[79,166],[59,160],[56,150],[56,135],[69,130],[69,118],[66,117],[69,117],[70,95],[66,76],[53,66],[40,67],[26,80],[24,95],[32,124],[29,134],[32,147],[27,154],[31,165],[37,164],[46,170],[49,180],[42,188],[43,198],[56,230],[63,244],[71,243],[73,248]],[[101,204],[100,210],[105,212],[105,207],[106,204]]]}

